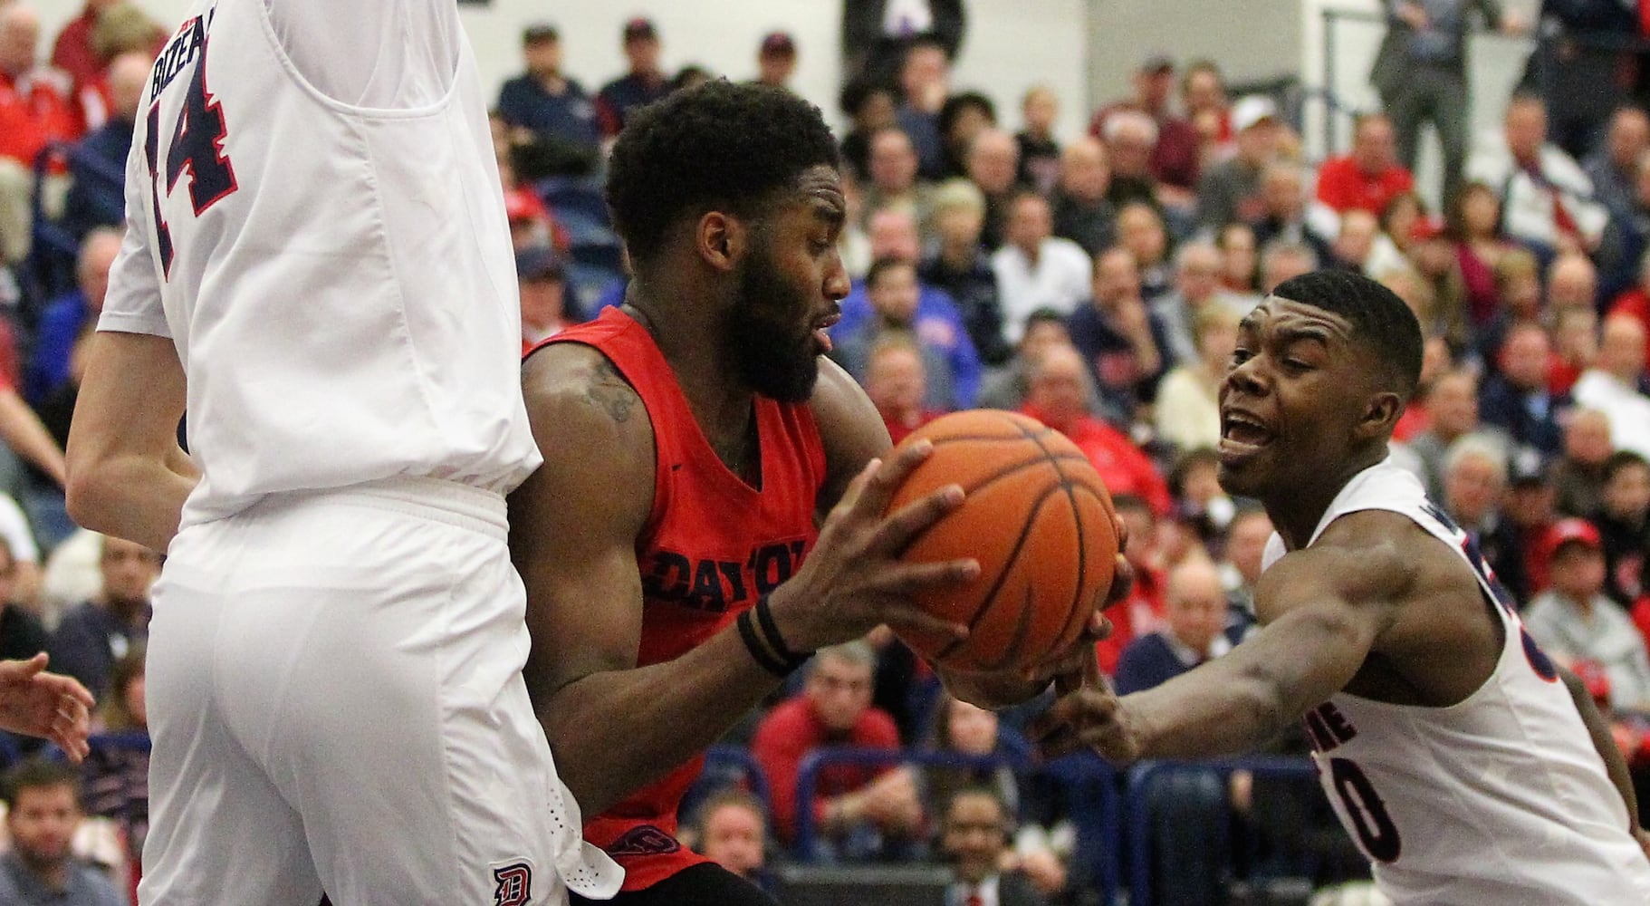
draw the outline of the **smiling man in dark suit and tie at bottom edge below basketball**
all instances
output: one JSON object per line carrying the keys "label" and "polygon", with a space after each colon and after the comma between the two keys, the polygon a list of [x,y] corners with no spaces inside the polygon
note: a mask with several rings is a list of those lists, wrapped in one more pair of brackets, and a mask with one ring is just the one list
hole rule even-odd
{"label": "smiling man in dark suit and tie at bottom edge below basketball", "polygon": [[988,789],[950,797],[940,820],[940,852],[952,865],[947,906],[1044,906],[1048,899],[1023,871],[1005,871],[1008,810]]}

